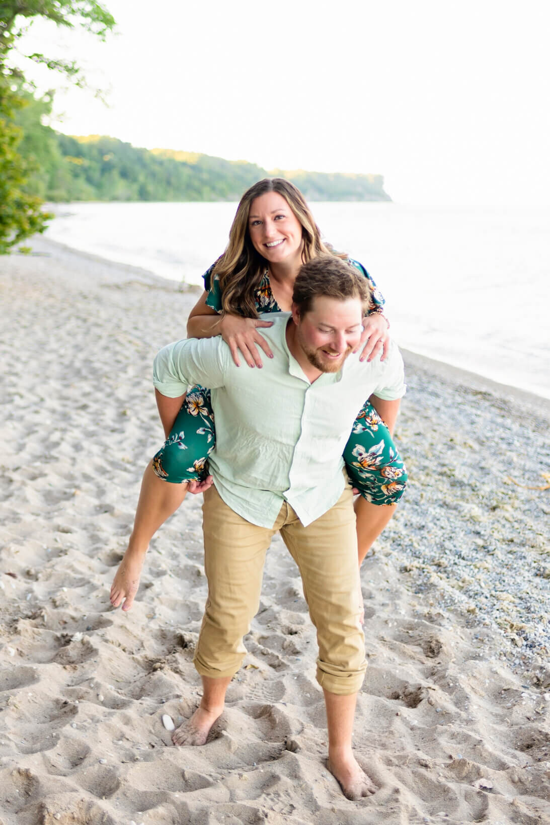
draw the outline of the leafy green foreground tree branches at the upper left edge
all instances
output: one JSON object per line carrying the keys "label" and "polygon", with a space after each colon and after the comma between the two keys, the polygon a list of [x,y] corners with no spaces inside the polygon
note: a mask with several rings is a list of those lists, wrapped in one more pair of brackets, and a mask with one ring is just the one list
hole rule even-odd
{"label": "leafy green foreground tree branches at the upper left edge", "polygon": [[[41,210],[40,198],[28,191],[33,169],[17,151],[23,133],[14,123],[14,112],[27,103],[25,92],[34,87],[10,58],[22,54],[21,39],[36,18],[69,29],[81,26],[102,40],[115,25],[107,8],[93,0],[0,0],[0,254],[43,232],[50,217]],[[86,85],[75,61],[37,52],[23,57],[64,74],[79,87]]]}

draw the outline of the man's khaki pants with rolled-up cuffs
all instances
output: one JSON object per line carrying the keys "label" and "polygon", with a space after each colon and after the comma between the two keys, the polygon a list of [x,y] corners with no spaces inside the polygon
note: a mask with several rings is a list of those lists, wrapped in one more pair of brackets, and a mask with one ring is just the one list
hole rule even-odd
{"label": "man's khaki pants with rolled-up cuffs", "polygon": [[366,670],[359,623],[359,572],[353,496],[339,501],[307,527],[283,502],[273,527],[238,516],[215,487],[204,494],[203,529],[208,598],[195,653],[202,676],[233,676],[246,649],[243,636],[258,612],[265,554],[277,530],[301,573],[304,596],[317,629],[317,681],[330,693],[349,695]]}

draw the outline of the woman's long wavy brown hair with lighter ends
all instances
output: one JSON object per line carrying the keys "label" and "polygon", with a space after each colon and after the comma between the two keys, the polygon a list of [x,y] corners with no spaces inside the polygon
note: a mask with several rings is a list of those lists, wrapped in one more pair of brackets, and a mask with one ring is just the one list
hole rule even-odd
{"label": "woman's long wavy brown hair with lighter ends", "polygon": [[252,245],[249,233],[250,205],[266,192],[278,192],[301,223],[303,247],[302,263],[320,254],[347,257],[325,245],[309,206],[301,191],[283,177],[266,177],[250,186],[239,200],[235,219],[231,224],[230,240],[212,270],[211,277],[220,279],[221,304],[226,313],[258,318],[254,293],[262,281],[268,262]]}

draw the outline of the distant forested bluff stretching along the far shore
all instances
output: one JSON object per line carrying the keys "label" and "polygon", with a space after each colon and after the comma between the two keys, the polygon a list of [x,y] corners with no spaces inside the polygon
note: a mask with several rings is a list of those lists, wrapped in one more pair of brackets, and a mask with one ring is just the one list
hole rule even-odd
{"label": "distant forested bluff stretching along the far shore", "polygon": [[26,189],[50,202],[71,200],[239,200],[263,177],[286,177],[308,200],[391,200],[382,175],[266,171],[254,163],[121,140],[71,137],[42,124],[50,106],[32,100],[17,113],[18,151],[34,166]]}

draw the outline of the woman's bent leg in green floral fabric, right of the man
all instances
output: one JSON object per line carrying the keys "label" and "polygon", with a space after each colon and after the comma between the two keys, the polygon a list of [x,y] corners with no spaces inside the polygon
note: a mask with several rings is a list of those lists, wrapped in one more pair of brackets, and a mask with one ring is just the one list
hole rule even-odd
{"label": "woman's bent leg in green floral fabric, right of the man", "polygon": [[390,431],[367,401],[355,419],[344,450],[349,479],[360,495],[355,502],[359,564],[396,512],[407,473]]}

